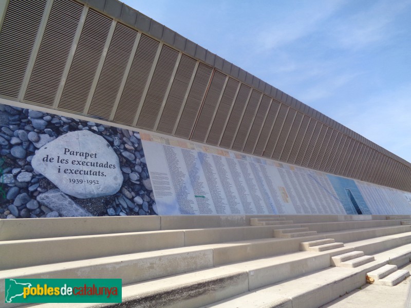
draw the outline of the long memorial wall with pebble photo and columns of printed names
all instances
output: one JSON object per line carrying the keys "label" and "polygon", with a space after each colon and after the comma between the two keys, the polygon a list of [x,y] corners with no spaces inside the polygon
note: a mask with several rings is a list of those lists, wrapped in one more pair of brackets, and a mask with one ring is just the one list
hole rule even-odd
{"label": "long memorial wall with pebble photo and columns of printed names", "polygon": [[0,217],[411,214],[411,193],[0,105]]}

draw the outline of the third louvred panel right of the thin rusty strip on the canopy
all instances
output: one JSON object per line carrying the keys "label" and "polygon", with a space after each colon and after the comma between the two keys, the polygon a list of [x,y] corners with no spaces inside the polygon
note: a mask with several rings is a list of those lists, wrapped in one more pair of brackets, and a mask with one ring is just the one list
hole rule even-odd
{"label": "third louvred panel right of the thin rusty strip on the canopy", "polygon": [[246,86],[245,84],[240,85],[240,89],[234,101],[233,109],[231,110],[226,129],[224,130],[221,138],[220,146],[226,148],[231,147],[231,143],[235,137],[234,134],[238,127],[238,121],[239,119],[241,119],[241,114],[246,106],[250,91],[250,87]]}

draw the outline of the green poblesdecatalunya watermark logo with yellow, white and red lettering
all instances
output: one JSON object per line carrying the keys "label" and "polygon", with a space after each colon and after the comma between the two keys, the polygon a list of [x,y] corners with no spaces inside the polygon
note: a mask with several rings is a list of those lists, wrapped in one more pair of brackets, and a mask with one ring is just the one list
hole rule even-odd
{"label": "green poblesdecatalunya watermark logo with yellow, white and red lettering", "polygon": [[121,279],[6,279],[6,303],[121,303]]}

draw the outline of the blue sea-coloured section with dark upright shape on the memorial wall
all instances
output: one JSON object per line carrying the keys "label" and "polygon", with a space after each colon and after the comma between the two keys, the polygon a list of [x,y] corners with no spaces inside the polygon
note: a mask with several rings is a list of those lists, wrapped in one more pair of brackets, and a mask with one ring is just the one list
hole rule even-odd
{"label": "blue sea-coloured section with dark upright shape on the memorial wall", "polygon": [[347,214],[371,214],[371,211],[354,180],[332,175],[327,175],[327,177],[330,180],[332,187],[334,187],[335,192],[337,192],[337,196],[343,204]]}

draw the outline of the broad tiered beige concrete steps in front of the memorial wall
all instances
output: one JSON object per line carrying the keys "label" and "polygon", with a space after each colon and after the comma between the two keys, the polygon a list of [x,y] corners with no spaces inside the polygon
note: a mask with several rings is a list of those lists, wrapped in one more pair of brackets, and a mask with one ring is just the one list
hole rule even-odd
{"label": "broad tiered beige concrete steps in front of the memorial wall", "polygon": [[[385,217],[261,218],[0,221],[0,306],[5,278],[121,278],[120,306],[318,307],[366,283],[366,274],[389,260],[400,266],[411,254],[411,226]],[[315,233],[283,237],[307,228]],[[378,258],[356,267],[333,266],[333,257],[364,249]]]}

